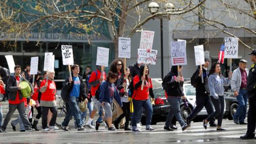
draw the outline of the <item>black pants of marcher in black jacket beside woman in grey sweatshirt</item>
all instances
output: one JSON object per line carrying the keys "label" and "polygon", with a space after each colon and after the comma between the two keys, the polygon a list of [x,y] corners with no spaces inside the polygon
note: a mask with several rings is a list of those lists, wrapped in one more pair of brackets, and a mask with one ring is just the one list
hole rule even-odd
{"label": "black pants of marcher in black jacket beside woman in grey sweatshirt", "polygon": [[[205,107],[207,114],[213,113],[212,101],[207,94],[196,94],[196,107],[193,109],[192,113],[188,116],[188,119],[193,120],[198,113]],[[215,118],[212,118],[210,124],[215,122]]]}

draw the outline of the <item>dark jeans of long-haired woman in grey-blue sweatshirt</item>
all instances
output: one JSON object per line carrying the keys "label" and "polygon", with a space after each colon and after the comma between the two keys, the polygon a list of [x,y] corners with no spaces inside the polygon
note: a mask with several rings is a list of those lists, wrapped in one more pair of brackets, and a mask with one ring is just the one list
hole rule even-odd
{"label": "dark jeans of long-haired woman in grey-blue sweatshirt", "polygon": [[214,99],[211,96],[211,100],[212,100],[213,106],[215,108],[215,111],[211,115],[209,115],[206,119],[209,122],[209,121],[211,121],[211,119],[218,116],[218,124],[217,125],[221,126],[222,119],[223,119],[223,113],[224,113],[224,106],[225,106],[224,96],[219,96],[219,99]]}

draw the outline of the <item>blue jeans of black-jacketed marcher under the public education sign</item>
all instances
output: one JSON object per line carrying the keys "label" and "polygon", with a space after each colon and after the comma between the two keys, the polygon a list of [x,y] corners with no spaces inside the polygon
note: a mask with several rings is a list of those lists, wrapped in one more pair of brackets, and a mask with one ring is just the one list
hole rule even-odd
{"label": "blue jeans of black-jacketed marcher under the public education sign", "polygon": [[180,112],[180,103],[181,103],[181,98],[180,97],[167,97],[168,102],[170,103],[170,111],[169,114],[166,118],[165,126],[169,127],[172,121],[172,118],[175,115],[175,118],[177,121],[180,123],[180,126],[184,126],[186,123],[183,121],[181,117],[181,112]]}

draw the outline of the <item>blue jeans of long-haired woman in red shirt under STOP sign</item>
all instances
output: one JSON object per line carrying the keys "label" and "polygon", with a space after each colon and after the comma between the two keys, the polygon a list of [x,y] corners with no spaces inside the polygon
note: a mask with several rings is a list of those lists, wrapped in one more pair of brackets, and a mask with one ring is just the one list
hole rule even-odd
{"label": "blue jeans of long-haired woman in red shirt under STOP sign", "polygon": [[[132,115],[132,129],[137,128],[137,119],[139,117],[139,113],[141,108],[145,108],[147,111],[147,117],[146,117],[146,126],[150,126],[151,124],[151,118],[153,114],[153,107],[151,104],[150,99],[147,100],[132,100],[133,102],[133,115]],[[148,128],[148,127],[146,127]]]}

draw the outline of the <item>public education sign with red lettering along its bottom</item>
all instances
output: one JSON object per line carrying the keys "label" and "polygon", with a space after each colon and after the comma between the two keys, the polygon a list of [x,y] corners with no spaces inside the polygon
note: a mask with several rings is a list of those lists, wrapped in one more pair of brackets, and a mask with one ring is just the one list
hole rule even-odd
{"label": "public education sign with red lettering along its bottom", "polygon": [[187,65],[186,41],[171,42],[172,66]]}

